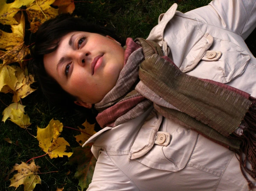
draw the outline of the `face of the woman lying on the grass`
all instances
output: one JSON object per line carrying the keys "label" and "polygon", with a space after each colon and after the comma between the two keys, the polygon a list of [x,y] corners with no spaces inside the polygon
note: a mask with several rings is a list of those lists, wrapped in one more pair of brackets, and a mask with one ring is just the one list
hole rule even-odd
{"label": "face of the woman lying on the grass", "polygon": [[87,108],[115,86],[123,64],[120,43],[89,32],[68,33],[54,52],[44,55],[46,72],[77,98],[76,104]]}

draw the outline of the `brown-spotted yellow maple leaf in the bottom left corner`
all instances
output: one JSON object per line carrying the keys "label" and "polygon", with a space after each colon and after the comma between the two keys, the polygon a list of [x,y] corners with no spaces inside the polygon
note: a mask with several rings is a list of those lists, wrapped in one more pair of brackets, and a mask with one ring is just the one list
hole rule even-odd
{"label": "brown-spotted yellow maple leaf in the bottom left corner", "polygon": [[21,162],[21,164],[15,164],[11,172],[17,170],[18,173],[10,179],[10,187],[18,188],[19,185],[24,184],[24,190],[34,190],[36,184],[41,184],[41,179],[37,174],[40,167],[35,165],[34,160],[30,164]]}

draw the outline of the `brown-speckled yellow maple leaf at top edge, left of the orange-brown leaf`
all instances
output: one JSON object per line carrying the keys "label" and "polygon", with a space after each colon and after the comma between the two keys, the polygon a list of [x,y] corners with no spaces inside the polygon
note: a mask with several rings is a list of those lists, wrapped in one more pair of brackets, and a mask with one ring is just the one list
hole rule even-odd
{"label": "brown-speckled yellow maple leaf at top edge, left of the orange-brown leaf", "polygon": [[35,0],[27,9],[30,30],[34,33],[38,27],[46,20],[54,18],[58,15],[58,9],[52,8],[50,5],[55,0]]}

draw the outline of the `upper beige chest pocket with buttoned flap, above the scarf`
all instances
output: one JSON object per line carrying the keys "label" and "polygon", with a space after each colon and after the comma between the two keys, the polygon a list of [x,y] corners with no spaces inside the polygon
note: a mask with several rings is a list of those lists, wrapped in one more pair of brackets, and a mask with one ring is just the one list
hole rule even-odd
{"label": "upper beige chest pocket with buttoned flap, above the scarf", "polygon": [[[191,76],[221,83],[230,82],[241,76],[250,60],[249,53],[228,40],[212,37],[211,44],[208,42],[210,36],[205,34],[195,44],[184,59],[180,70]],[[211,52],[214,53],[213,57]]]}

